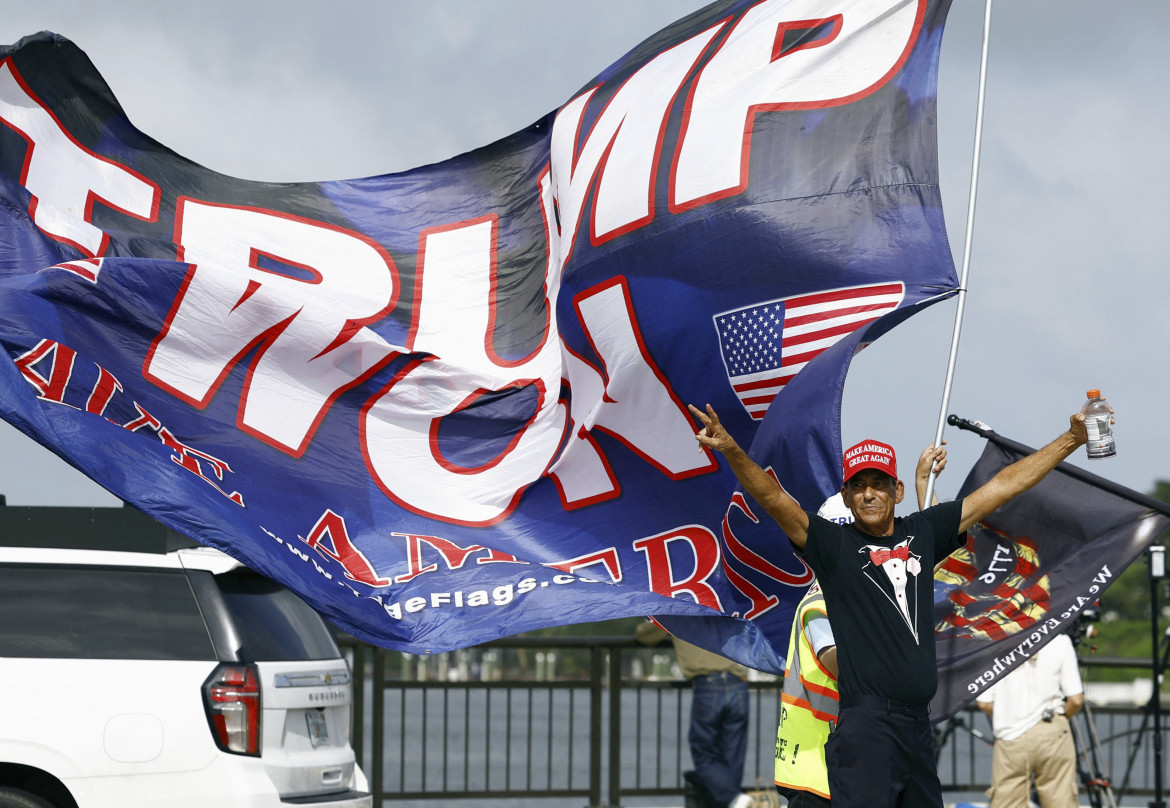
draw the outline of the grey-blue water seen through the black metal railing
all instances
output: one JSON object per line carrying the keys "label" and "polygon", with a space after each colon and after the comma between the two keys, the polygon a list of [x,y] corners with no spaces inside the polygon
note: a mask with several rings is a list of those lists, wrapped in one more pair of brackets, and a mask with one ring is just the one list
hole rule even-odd
{"label": "grey-blue water seen through the black metal railing", "polygon": [[[367,691],[369,693],[369,691]],[[366,704],[371,704],[367,695]],[[608,693],[603,698],[603,759],[607,757],[610,725]],[[778,720],[778,689],[752,693],[752,720],[744,783],[771,785],[772,750]],[[674,807],[682,804],[677,792],[682,772],[690,768],[686,734],[690,691],[677,683],[659,688],[631,688],[621,696],[621,786],[622,806]],[[387,691],[385,705],[384,786],[397,792],[501,789],[587,789],[590,780],[590,698],[577,686],[534,683],[521,688],[427,689]],[[1083,716],[1078,717],[1082,737]],[[1095,728],[1100,755],[1094,764],[1122,785],[1129,757],[1142,720],[1141,714],[1096,711]],[[1168,720],[1165,724],[1170,724]],[[1164,724],[1164,725],[1165,725]],[[366,721],[366,750],[371,750],[371,721]],[[1165,731],[1164,731],[1165,734]],[[980,738],[982,736],[982,738]],[[990,720],[979,712],[961,713],[950,727],[938,761],[948,804],[985,806],[980,783],[991,775]],[[1164,748],[1170,748],[1164,741]],[[1136,748],[1130,773],[1135,788],[1151,788],[1151,732]],[[1088,764],[1086,758],[1085,765]],[[369,774],[367,761],[364,764]],[[607,795],[608,772],[601,771],[603,802]],[[670,794],[631,795],[629,790],[662,789]],[[394,808],[584,808],[587,796],[570,797],[461,797],[387,801]],[[1127,796],[1122,806],[1145,806],[1149,796]],[[1081,790],[1081,803],[1089,804]]]}

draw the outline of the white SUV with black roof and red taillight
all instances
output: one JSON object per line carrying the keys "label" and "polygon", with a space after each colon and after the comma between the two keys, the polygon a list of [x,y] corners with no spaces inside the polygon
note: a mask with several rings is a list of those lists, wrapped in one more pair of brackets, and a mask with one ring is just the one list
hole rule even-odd
{"label": "white SUV with black roof and red taillight", "polygon": [[317,613],[131,509],[0,504],[0,808],[372,806]]}

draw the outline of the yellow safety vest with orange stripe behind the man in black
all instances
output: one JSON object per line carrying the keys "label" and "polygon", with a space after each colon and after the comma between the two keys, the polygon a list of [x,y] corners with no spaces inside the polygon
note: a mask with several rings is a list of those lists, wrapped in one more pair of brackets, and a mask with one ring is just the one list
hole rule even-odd
{"label": "yellow safety vest with orange stripe behind the man in black", "polygon": [[831,799],[825,741],[837,725],[837,678],[808,644],[805,623],[825,612],[825,596],[817,582],[797,606],[789,637],[789,669],[780,695],[780,726],[776,731],[776,785]]}

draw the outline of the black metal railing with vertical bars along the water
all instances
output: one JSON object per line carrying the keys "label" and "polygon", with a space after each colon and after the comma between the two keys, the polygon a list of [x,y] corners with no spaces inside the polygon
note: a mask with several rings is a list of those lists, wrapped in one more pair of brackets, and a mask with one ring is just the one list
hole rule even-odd
{"label": "black metal railing with vertical bars along the water", "polygon": [[[646,649],[613,636],[511,637],[476,649],[477,665],[466,664],[466,657],[462,669],[432,658],[421,681],[418,665],[425,657],[358,643],[345,648],[355,671],[353,746],[374,804],[496,797],[600,807],[659,795],[681,800],[682,772],[689,767],[690,690],[649,675],[655,668],[663,672],[661,655],[669,654],[669,645]],[[498,664],[488,664],[491,655],[502,654],[526,656],[528,678],[516,671],[504,677]],[[555,675],[551,664],[531,664],[534,657],[553,654],[559,655],[557,668],[570,672]],[[1149,670],[1148,662],[1120,663]],[[438,681],[436,670],[446,671]],[[532,670],[541,671],[541,681]],[[744,785],[766,788],[779,682],[752,682],[750,688]],[[1089,712],[1090,723],[1083,713],[1076,719],[1085,775],[1112,780],[1115,792],[1124,785],[1128,794],[1151,794],[1154,744],[1145,710]],[[938,773],[945,790],[986,788],[990,736],[990,723],[973,709],[940,727]]]}

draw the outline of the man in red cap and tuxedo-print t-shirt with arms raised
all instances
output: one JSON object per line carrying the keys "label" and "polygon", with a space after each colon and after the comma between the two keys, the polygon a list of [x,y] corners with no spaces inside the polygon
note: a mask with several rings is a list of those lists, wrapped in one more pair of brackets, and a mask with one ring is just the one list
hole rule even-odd
{"label": "man in red cap and tuxedo-print t-shirt with arms raised", "polygon": [[[852,525],[801,509],[722,427],[710,405],[690,406],[698,442],[723,454],[744,491],[760,504],[812,567],[833,615],[840,714],[826,745],[838,808],[942,806],[929,704],[938,686],[930,571],[973,524],[1039,483],[1087,436],[1085,417],[1048,446],[1003,469],[964,499],[907,517],[894,450],[862,441],[842,457],[841,496]],[[934,450],[943,456],[940,447]]]}

